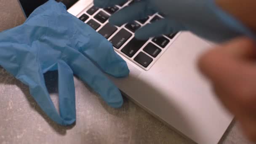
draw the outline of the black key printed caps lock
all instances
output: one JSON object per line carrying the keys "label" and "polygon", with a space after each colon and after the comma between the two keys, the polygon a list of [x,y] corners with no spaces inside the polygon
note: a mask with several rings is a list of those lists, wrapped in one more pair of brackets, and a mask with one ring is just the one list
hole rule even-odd
{"label": "black key printed caps lock", "polygon": [[132,34],[130,32],[128,32],[125,29],[121,29],[119,32],[117,32],[117,34],[112,37],[111,40],[109,40],[112,45],[115,46],[115,48],[120,48],[130,37],[132,36]]}

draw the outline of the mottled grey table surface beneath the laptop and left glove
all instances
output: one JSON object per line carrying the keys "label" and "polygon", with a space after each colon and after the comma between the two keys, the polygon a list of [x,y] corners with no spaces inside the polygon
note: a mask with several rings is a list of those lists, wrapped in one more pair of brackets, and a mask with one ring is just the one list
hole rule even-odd
{"label": "mottled grey table surface beneath the laptop and left glove", "polygon": [[[16,0],[0,0],[0,32],[24,22]],[[57,103],[56,73],[45,75]],[[77,121],[62,127],[46,117],[26,85],[0,68],[0,144],[189,144],[155,117],[125,99],[120,109],[109,108],[98,95],[75,78]],[[248,144],[233,122],[223,144]]]}

